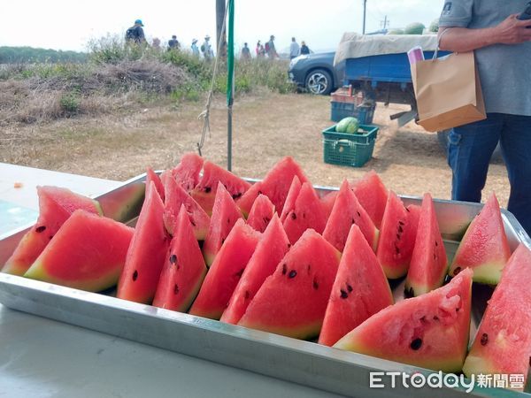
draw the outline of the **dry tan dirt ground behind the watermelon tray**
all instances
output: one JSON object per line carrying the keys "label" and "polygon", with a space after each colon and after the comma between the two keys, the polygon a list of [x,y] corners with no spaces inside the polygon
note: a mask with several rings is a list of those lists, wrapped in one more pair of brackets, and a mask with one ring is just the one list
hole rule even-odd
{"label": "dry tan dirt ground behind the watermelon tray", "polygon": [[[4,128],[0,161],[73,172],[112,180],[126,180],[145,166],[175,165],[183,152],[196,150],[202,124],[197,115],[203,103],[148,106],[126,115],[62,119],[41,126]],[[234,109],[233,170],[261,178],[283,156],[303,165],[317,185],[338,186],[374,169],[388,188],[401,195],[431,192],[450,198],[451,172],[436,134],[408,124],[400,129],[389,115],[404,107],[379,103],[374,123],[380,126],[373,159],[351,168],[323,162],[321,131],[332,125],[326,96],[263,93],[238,98]],[[224,98],[214,103],[212,134],[203,155],[227,165],[227,110]],[[496,191],[502,205],[509,195],[503,164],[490,166],[485,192]]]}

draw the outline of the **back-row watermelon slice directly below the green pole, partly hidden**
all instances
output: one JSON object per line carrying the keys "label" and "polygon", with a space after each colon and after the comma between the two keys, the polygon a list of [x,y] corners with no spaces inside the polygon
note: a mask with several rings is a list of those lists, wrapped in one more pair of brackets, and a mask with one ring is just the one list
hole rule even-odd
{"label": "back-row watermelon slice directly below the green pole, partly hidden", "polygon": [[223,184],[234,200],[241,197],[250,188],[249,182],[242,180],[240,177],[236,177],[232,172],[227,172],[227,170],[212,162],[204,162],[203,177],[190,195],[192,195],[209,216],[212,214],[212,208],[216,198],[215,190],[218,188],[219,182]]}

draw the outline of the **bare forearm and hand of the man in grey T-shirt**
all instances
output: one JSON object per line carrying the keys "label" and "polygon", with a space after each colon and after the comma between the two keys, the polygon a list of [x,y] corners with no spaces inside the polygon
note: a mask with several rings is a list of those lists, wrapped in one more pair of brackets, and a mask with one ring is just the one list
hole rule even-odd
{"label": "bare forearm and hand of the man in grey T-shirt", "polygon": [[[531,41],[531,20],[519,20],[513,14],[496,27],[469,29],[468,27],[441,27],[439,47],[441,50],[466,52],[492,44],[518,44]],[[448,32],[443,34],[447,29]]]}

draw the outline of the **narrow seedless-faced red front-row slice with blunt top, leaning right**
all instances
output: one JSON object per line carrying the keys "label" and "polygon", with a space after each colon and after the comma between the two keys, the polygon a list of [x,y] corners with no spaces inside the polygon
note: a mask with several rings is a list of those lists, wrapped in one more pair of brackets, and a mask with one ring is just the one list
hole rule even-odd
{"label": "narrow seedless-faced red front-row slice with blunt top, leaning right", "polygon": [[221,318],[250,257],[257,248],[260,235],[261,233],[245,224],[244,220],[239,219],[236,222],[206,274],[190,314],[211,319]]}

